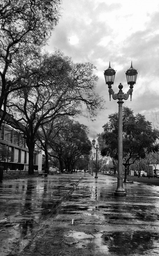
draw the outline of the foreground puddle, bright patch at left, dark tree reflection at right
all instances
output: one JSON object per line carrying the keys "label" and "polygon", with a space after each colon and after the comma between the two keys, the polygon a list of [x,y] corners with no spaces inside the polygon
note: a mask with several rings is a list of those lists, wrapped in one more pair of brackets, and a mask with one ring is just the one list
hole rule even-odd
{"label": "foreground puddle, bright patch at left, dark tree reflection at right", "polygon": [[106,232],[86,234],[85,232],[70,231],[65,235],[65,243],[72,238],[77,247],[85,246],[87,249],[96,249],[111,255],[153,255],[153,250],[159,247],[159,235],[151,232],[134,231]]}

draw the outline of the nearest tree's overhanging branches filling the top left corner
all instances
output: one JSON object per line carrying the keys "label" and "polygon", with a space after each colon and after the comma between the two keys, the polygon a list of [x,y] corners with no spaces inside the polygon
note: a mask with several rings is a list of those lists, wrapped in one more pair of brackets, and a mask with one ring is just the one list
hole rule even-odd
{"label": "nearest tree's overhanging branches filling the top left corner", "polygon": [[[0,0],[0,110],[8,95],[25,87],[30,62],[46,44],[60,16],[60,0]],[[25,60],[26,70],[20,72]]]}

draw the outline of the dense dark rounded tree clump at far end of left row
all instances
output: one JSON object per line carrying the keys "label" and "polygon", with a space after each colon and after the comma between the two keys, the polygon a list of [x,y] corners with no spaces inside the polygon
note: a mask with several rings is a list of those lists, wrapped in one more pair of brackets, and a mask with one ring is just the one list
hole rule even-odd
{"label": "dense dark rounded tree clump at far end of left row", "polygon": [[63,171],[63,162],[65,169],[73,171],[75,163],[81,159],[86,161],[89,158],[92,145],[88,139],[88,127],[69,120],[67,127],[61,129],[53,140],[50,141],[50,147],[58,156],[61,170]]}

